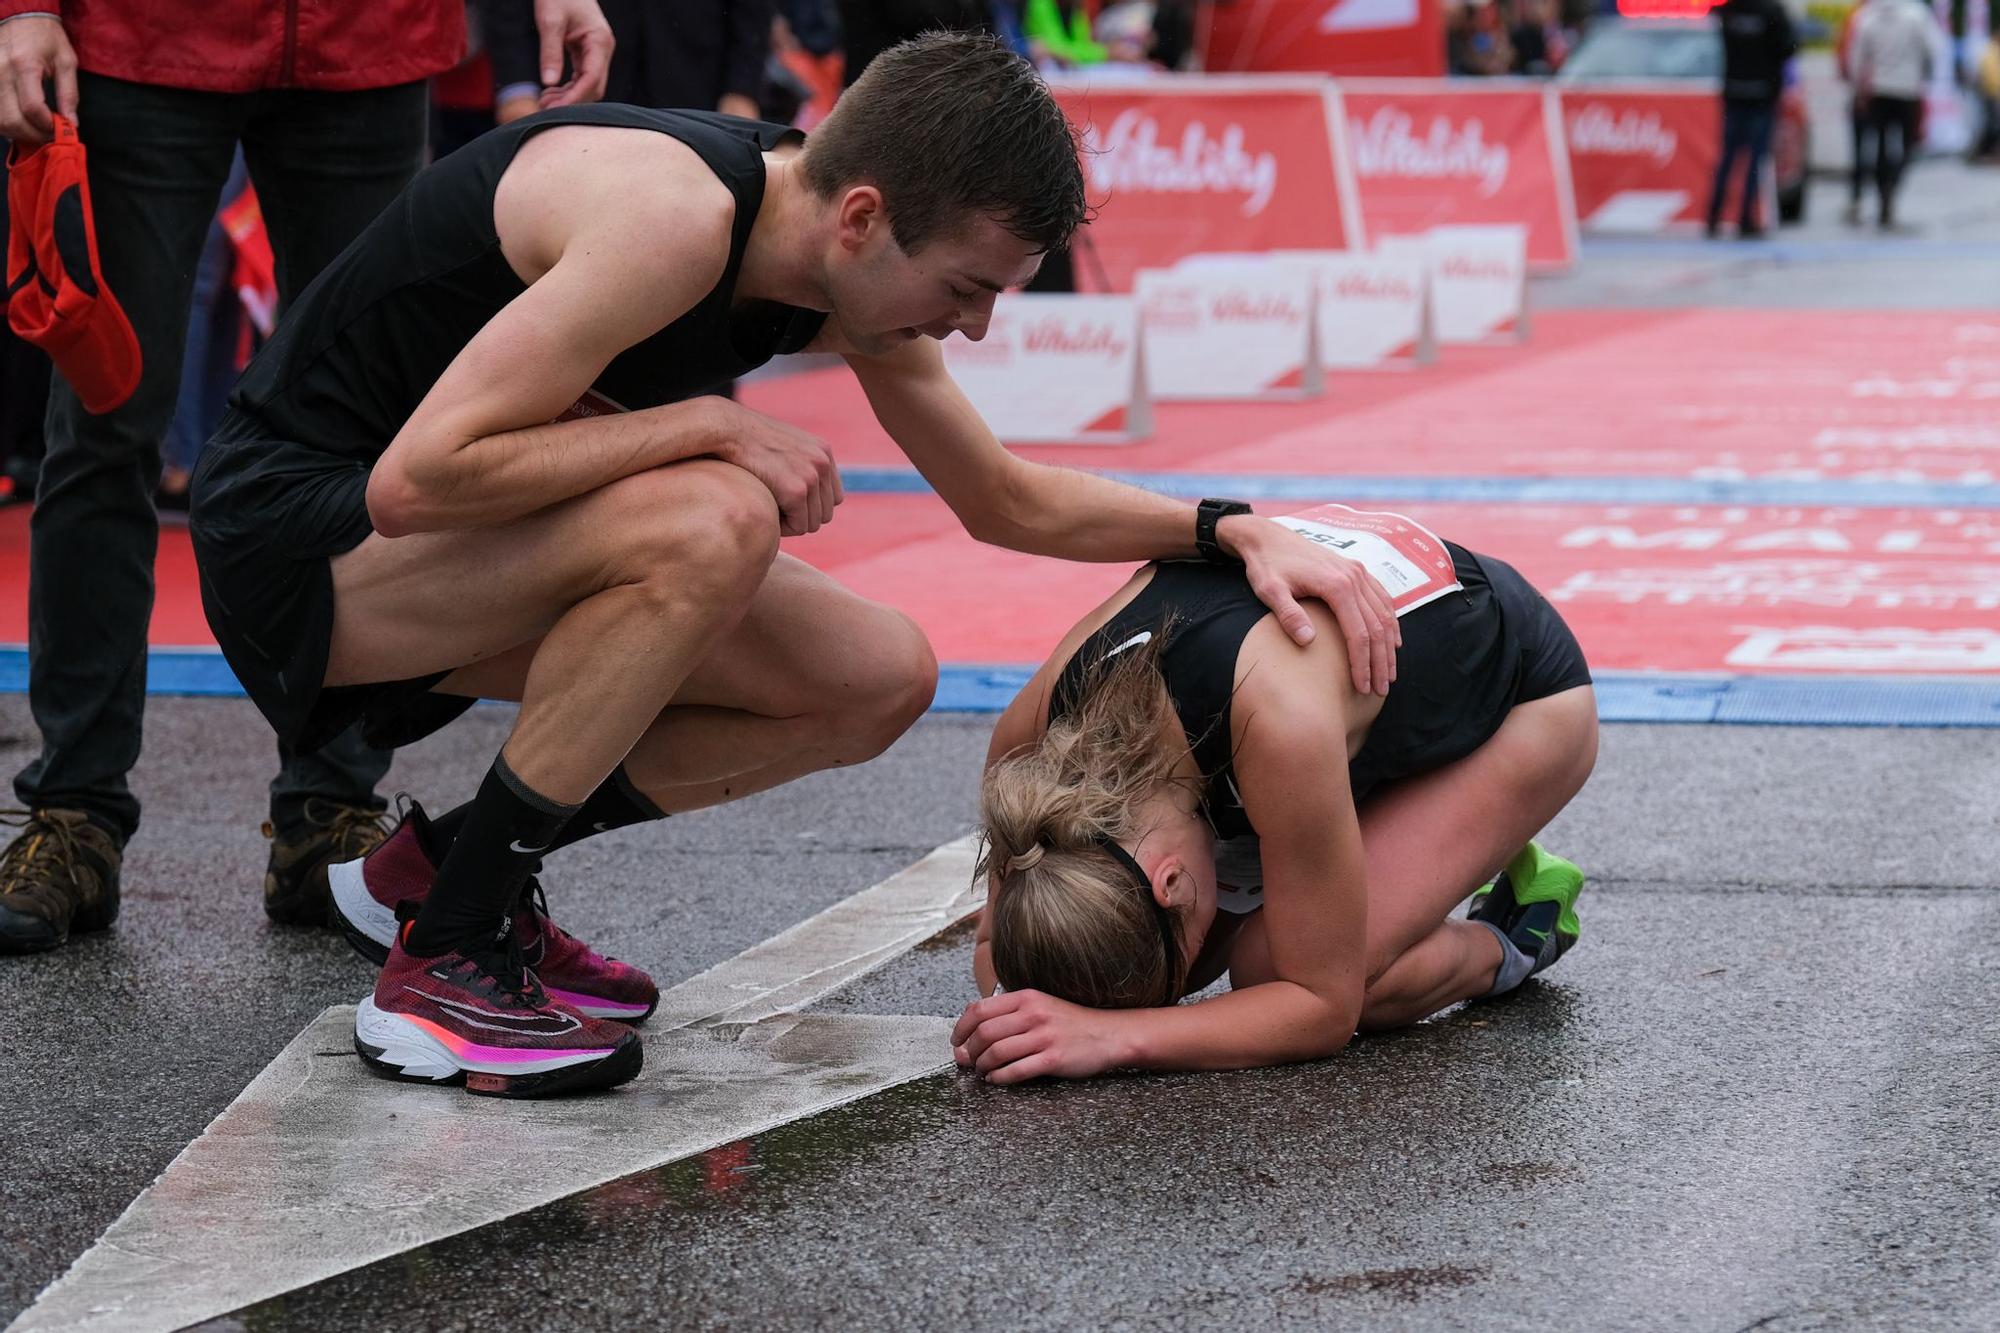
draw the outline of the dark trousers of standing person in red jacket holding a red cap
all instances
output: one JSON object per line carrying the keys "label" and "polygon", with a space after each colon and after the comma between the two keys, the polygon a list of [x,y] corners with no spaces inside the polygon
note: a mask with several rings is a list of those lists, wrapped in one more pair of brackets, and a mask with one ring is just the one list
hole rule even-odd
{"label": "dark trousers of standing person in red jacket holding a red cap", "polygon": [[[146,703],[146,622],[160,522],[152,492],[180,390],[202,238],[242,142],[288,302],[422,166],[426,86],[370,92],[188,92],[80,74],[78,130],[104,280],[144,352],[138,392],[92,416],[50,388],[28,574],[28,703],[42,753],[14,779],[30,807],[82,809],[130,837]],[[272,823],[310,797],[372,803],[390,757],[350,733],[316,755],[280,747]]]}

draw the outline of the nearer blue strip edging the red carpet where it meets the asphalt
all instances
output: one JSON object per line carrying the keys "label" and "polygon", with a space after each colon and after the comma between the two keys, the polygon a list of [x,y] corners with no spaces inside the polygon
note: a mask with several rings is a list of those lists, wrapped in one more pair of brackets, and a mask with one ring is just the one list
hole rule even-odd
{"label": "nearer blue strip edging the red carpet where it meets the asphalt", "polygon": [[[998,713],[1032,666],[950,664],[938,673],[932,713]],[[28,650],[0,646],[0,693],[28,691]],[[148,695],[240,699],[220,652],[154,648]],[[1744,727],[2000,727],[2000,679],[1974,677],[1730,677],[1650,671],[1598,673],[1606,723],[1720,723]]]}

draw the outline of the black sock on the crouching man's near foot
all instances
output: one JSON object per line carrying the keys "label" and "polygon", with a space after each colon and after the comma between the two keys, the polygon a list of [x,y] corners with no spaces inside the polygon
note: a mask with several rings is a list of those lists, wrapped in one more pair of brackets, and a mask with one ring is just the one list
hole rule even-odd
{"label": "black sock on the crouching man's near foot", "polygon": [[520,887],[576,811],[514,777],[506,757],[494,759],[404,947],[428,959],[498,939]]}

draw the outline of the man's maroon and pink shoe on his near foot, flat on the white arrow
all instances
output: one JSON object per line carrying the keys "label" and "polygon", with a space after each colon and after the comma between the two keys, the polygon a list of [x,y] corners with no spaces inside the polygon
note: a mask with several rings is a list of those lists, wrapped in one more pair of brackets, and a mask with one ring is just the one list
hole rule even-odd
{"label": "man's maroon and pink shoe on his near foot, flat on the white arrow", "polygon": [[420,959],[400,941],[354,1013],[354,1051],[392,1079],[462,1083],[486,1097],[618,1087],[646,1059],[624,1023],[548,997],[512,945]]}

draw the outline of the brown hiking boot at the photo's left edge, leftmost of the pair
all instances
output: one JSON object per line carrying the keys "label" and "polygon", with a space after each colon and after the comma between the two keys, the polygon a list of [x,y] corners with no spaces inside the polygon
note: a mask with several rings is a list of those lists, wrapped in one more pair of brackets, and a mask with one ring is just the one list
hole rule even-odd
{"label": "brown hiking boot at the photo's left edge, leftmost of the pair", "polygon": [[124,851],[82,811],[0,811],[20,833],[0,853],[0,953],[40,953],[118,921]]}

